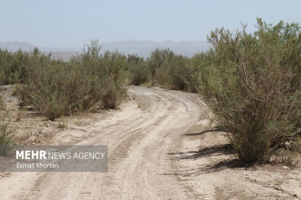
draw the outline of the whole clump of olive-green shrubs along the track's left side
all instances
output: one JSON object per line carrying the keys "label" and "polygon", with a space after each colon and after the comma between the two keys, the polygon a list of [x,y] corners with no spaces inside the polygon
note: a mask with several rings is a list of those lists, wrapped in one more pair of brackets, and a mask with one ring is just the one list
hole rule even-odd
{"label": "whole clump of olive-green shrubs along the track's left side", "polygon": [[91,41],[87,50],[69,62],[34,49],[17,94],[23,106],[32,105],[50,120],[97,105],[116,108],[127,91],[126,64],[126,57],[118,52],[100,54],[98,41]]}

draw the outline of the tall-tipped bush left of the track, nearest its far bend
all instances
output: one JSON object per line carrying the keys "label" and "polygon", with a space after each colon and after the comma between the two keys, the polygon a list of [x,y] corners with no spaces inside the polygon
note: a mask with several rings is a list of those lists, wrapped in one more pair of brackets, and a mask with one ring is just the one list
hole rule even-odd
{"label": "tall-tipped bush left of the track, nearest its far bend", "polygon": [[127,77],[126,56],[117,51],[100,54],[98,41],[91,41],[88,50],[73,62],[86,71],[90,80],[89,95],[84,102],[85,109],[97,102],[101,102],[104,108],[117,108],[127,92],[124,85]]}

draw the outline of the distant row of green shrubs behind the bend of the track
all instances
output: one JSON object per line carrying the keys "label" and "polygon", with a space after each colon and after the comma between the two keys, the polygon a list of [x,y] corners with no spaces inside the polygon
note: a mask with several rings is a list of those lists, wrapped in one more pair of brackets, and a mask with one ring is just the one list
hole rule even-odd
{"label": "distant row of green shrubs behind the bend of the track", "polygon": [[129,55],[130,84],[141,85],[151,81],[151,85],[161,85],[174,90],[196,92],[196,81],[192,76],[198,71],[200,57],[205,53],[196,54],[193,58],[176,55],[169,49],[155,49],[143,60],[136,55]]}

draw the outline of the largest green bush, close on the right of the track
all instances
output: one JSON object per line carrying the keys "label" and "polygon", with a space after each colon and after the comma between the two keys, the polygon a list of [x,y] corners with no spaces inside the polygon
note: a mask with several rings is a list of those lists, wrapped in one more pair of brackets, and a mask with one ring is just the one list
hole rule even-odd
{"label": "largest green bush, close on the right of the track", "polygon": [[199,89],[238,158],[266,161],[301,134],[301,33],[298,24],[257,20],[254,34],[217,29],[217,62],[196,73]]}

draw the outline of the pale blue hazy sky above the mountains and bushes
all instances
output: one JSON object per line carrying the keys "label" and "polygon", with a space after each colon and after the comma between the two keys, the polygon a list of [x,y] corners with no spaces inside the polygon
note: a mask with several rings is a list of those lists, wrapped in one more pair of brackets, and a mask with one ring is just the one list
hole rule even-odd
{"label": "pale blue hazy sky above the mountains and bushes", "polygon": [[240,22],[254,31],[269,23],[301,22],[301,0],[0,0],[0,41],[82,47],[89,39],[206,41],[216,27]]}

